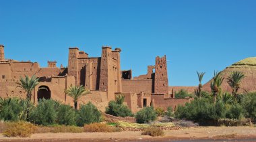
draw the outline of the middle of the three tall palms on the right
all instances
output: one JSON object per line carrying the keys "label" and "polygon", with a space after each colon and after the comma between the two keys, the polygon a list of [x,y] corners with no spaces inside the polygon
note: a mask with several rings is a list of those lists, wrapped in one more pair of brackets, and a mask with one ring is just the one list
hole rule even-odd
{"label": "middle of the three tall palms on the right", "polygon": [[214,77],[212,78],[212,81],[210,84],[212,92],[214,94],[214,103],[216,102],[218,93],[221,91],[220,86],[222,85],[223,80],[224,78],[220,76],[220,72],[214,71]]}

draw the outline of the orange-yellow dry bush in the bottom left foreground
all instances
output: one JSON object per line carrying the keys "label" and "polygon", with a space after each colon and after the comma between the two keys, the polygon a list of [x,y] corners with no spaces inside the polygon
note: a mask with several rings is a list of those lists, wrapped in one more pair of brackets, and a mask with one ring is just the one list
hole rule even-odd
{"label": "orange-yellow dry bush in the bottom left foreground", "polygon": [[6,123],[3,135],[6,137],[30,137],[36,126],[27,122]]}

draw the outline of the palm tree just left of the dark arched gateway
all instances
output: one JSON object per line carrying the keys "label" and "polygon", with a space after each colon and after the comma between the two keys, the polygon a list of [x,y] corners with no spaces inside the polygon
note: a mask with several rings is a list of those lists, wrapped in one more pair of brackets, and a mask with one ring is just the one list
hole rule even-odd
{"label": "palm tree just left of the dark arched gateway", "polygon": [[32,76],[31,78],[28,76],[25,76],[25,78],[20,78],[20,82],[18,82],[18,87],[22,88],[25,90],[26,94],[26,99],[31,101],[31,96],[32,96],[32,91],[36,87],[36,85],[39,84],[38,82],[39,78],[36,78],[36,76]]}

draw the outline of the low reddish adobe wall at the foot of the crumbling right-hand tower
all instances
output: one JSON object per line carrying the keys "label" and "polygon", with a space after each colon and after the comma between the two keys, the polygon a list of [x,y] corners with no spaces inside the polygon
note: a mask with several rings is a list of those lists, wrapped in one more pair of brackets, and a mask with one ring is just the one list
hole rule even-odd
{"label": "low reddish adobe wall at the foot of the crumbling right-hand tower", "polygon": [[173,111],[179,104],[184,105],[190,102],[190,98],[164,98],[164,94],[152,94],[151,98],[154,99],[154,107],[166,110],[168,106],[171,106]]}

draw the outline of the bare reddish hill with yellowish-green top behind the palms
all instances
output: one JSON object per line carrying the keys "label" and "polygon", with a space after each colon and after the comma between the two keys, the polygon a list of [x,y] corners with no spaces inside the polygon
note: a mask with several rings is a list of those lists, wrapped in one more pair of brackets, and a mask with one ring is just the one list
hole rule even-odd
{"label": "bare reddish hill with yellowish-green top behind the palms", "polygon": [[[224,82],[222,83],[223,91],[232,92],[226,78],[233,71],[240,71],[245,74],[245,78],[242,80],[241,89],[239,92],[256,91],[256,57],[245,58],[244,60],[228,66],[225,70],[221,72],[221,75],[225,78]],[[203,90],[211,91],[210,82],[211,80],[203,85]]]}

